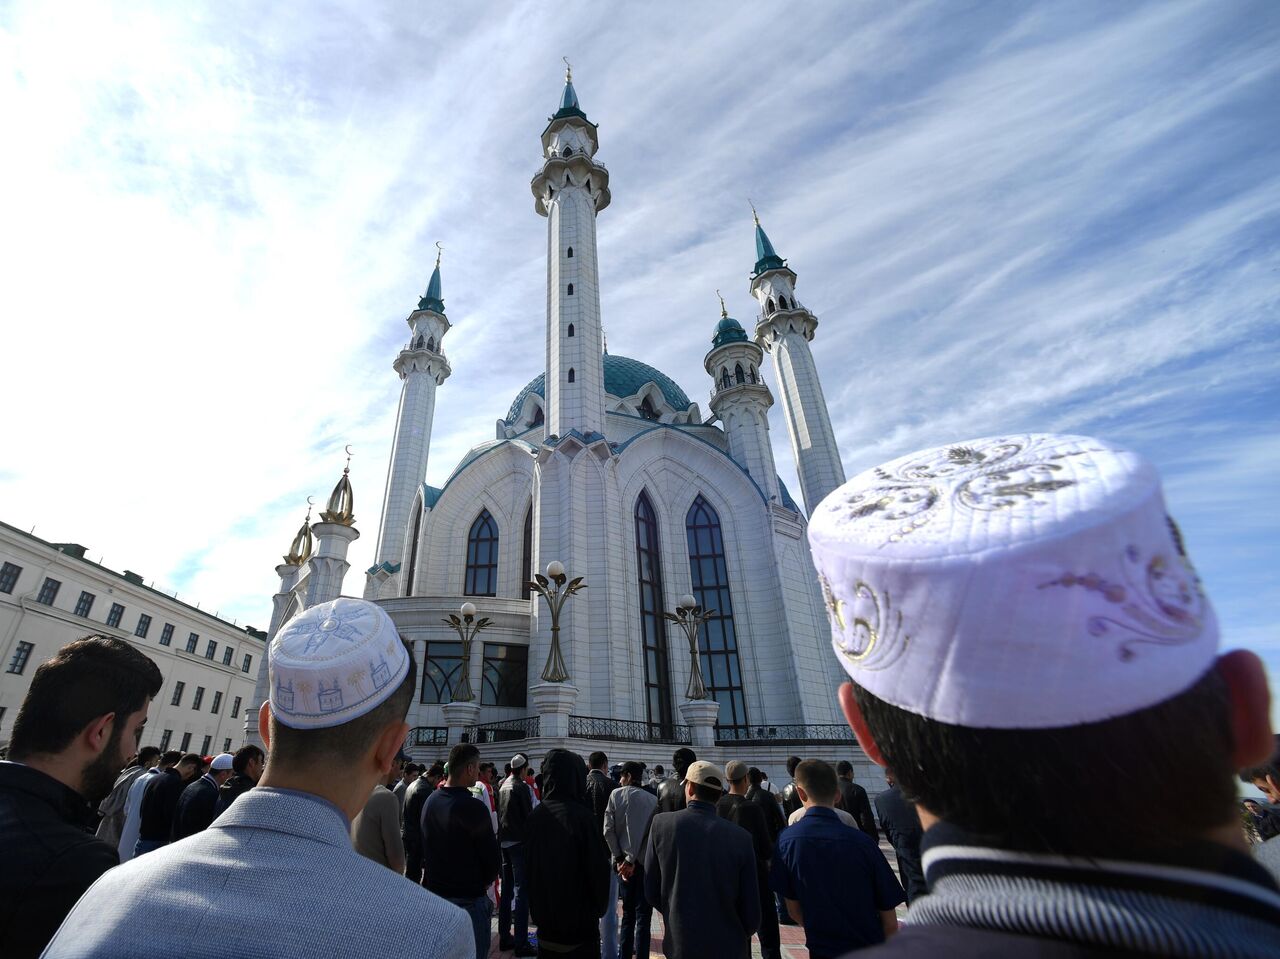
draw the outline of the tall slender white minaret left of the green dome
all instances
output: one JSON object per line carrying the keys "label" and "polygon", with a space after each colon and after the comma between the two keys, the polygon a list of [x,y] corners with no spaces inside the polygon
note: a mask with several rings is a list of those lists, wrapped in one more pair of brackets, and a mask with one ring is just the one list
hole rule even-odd
{"label": "tall slender white minaret left of the green dome", "polygon": [[[436,250],[440,245],[436,243]],[[374,566],[365,581],[365,598],[407,595],[412,584],[399,572],[404,563],[404,530],[419,488],[426,479],[426,458],[431,447],[431,421],[435,417],[435,388],[453,371],[444,359],[444,334],[449,320],[440,298],[440,254],[435,270],[417,309],[408,315],[410,338],[392,369],[399,374],[401,402],[396,415],[396,442],[387,467],[383,519],[378,526]]]}

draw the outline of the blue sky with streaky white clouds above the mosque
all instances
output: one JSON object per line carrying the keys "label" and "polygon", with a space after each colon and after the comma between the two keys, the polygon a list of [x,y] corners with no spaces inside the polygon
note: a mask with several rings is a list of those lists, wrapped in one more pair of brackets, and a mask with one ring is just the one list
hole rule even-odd
{"label": "blue sky with streaky white clouds above the mosque", "polygon": [[[1224,645],[1280,676],[1270,0],[0,0],[0,520],[265,627],[351,444],[358,594],[436,241],[426,479],[541,371],[562,56],[611,174],[611,352],[707,415],[714,291],[756,312],[750,197],[847,475],[998,433],[1129,446]],[[778,406],[772,437],[799,496]]]}

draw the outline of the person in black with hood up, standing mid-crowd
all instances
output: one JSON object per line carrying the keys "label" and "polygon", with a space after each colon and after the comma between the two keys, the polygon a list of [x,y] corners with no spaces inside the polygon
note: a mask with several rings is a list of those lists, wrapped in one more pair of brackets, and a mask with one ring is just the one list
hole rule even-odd
{"label": "person in black with hood up, standing mid-crowd", "polygon": [[609,850],[585,800],[586,764],[567,749],[543,761],[543,802],[529,816],[529,912],[544,959],[599,959]]}

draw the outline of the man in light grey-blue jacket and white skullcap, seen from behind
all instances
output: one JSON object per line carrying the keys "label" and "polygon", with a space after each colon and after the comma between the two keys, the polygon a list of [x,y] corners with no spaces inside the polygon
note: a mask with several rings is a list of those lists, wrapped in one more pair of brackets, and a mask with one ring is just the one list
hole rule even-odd
{"label": "man in light grey-blue jacket and white skullcap, seen from behind", "polygon": [[351,818],[408,735],[416,677],[375,603],[340,598],[284,624],[259,712],[262,780],[198,836],[99,880],[46,959],[401,955],[419,927],[433,959],[472,959],[461,909],[351,846]]}

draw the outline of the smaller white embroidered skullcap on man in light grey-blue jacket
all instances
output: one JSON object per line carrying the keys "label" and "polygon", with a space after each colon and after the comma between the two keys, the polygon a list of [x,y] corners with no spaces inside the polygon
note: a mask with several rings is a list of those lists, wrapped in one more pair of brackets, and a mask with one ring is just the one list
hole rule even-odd
{"label": "smaller white embroidered skullcap on man in light grey-blue jacket", "polygon": [[387,611],[339,598],[303,609],[269,652],[271,713],[293,729],[340,726],[384,703],[408,673]]}

